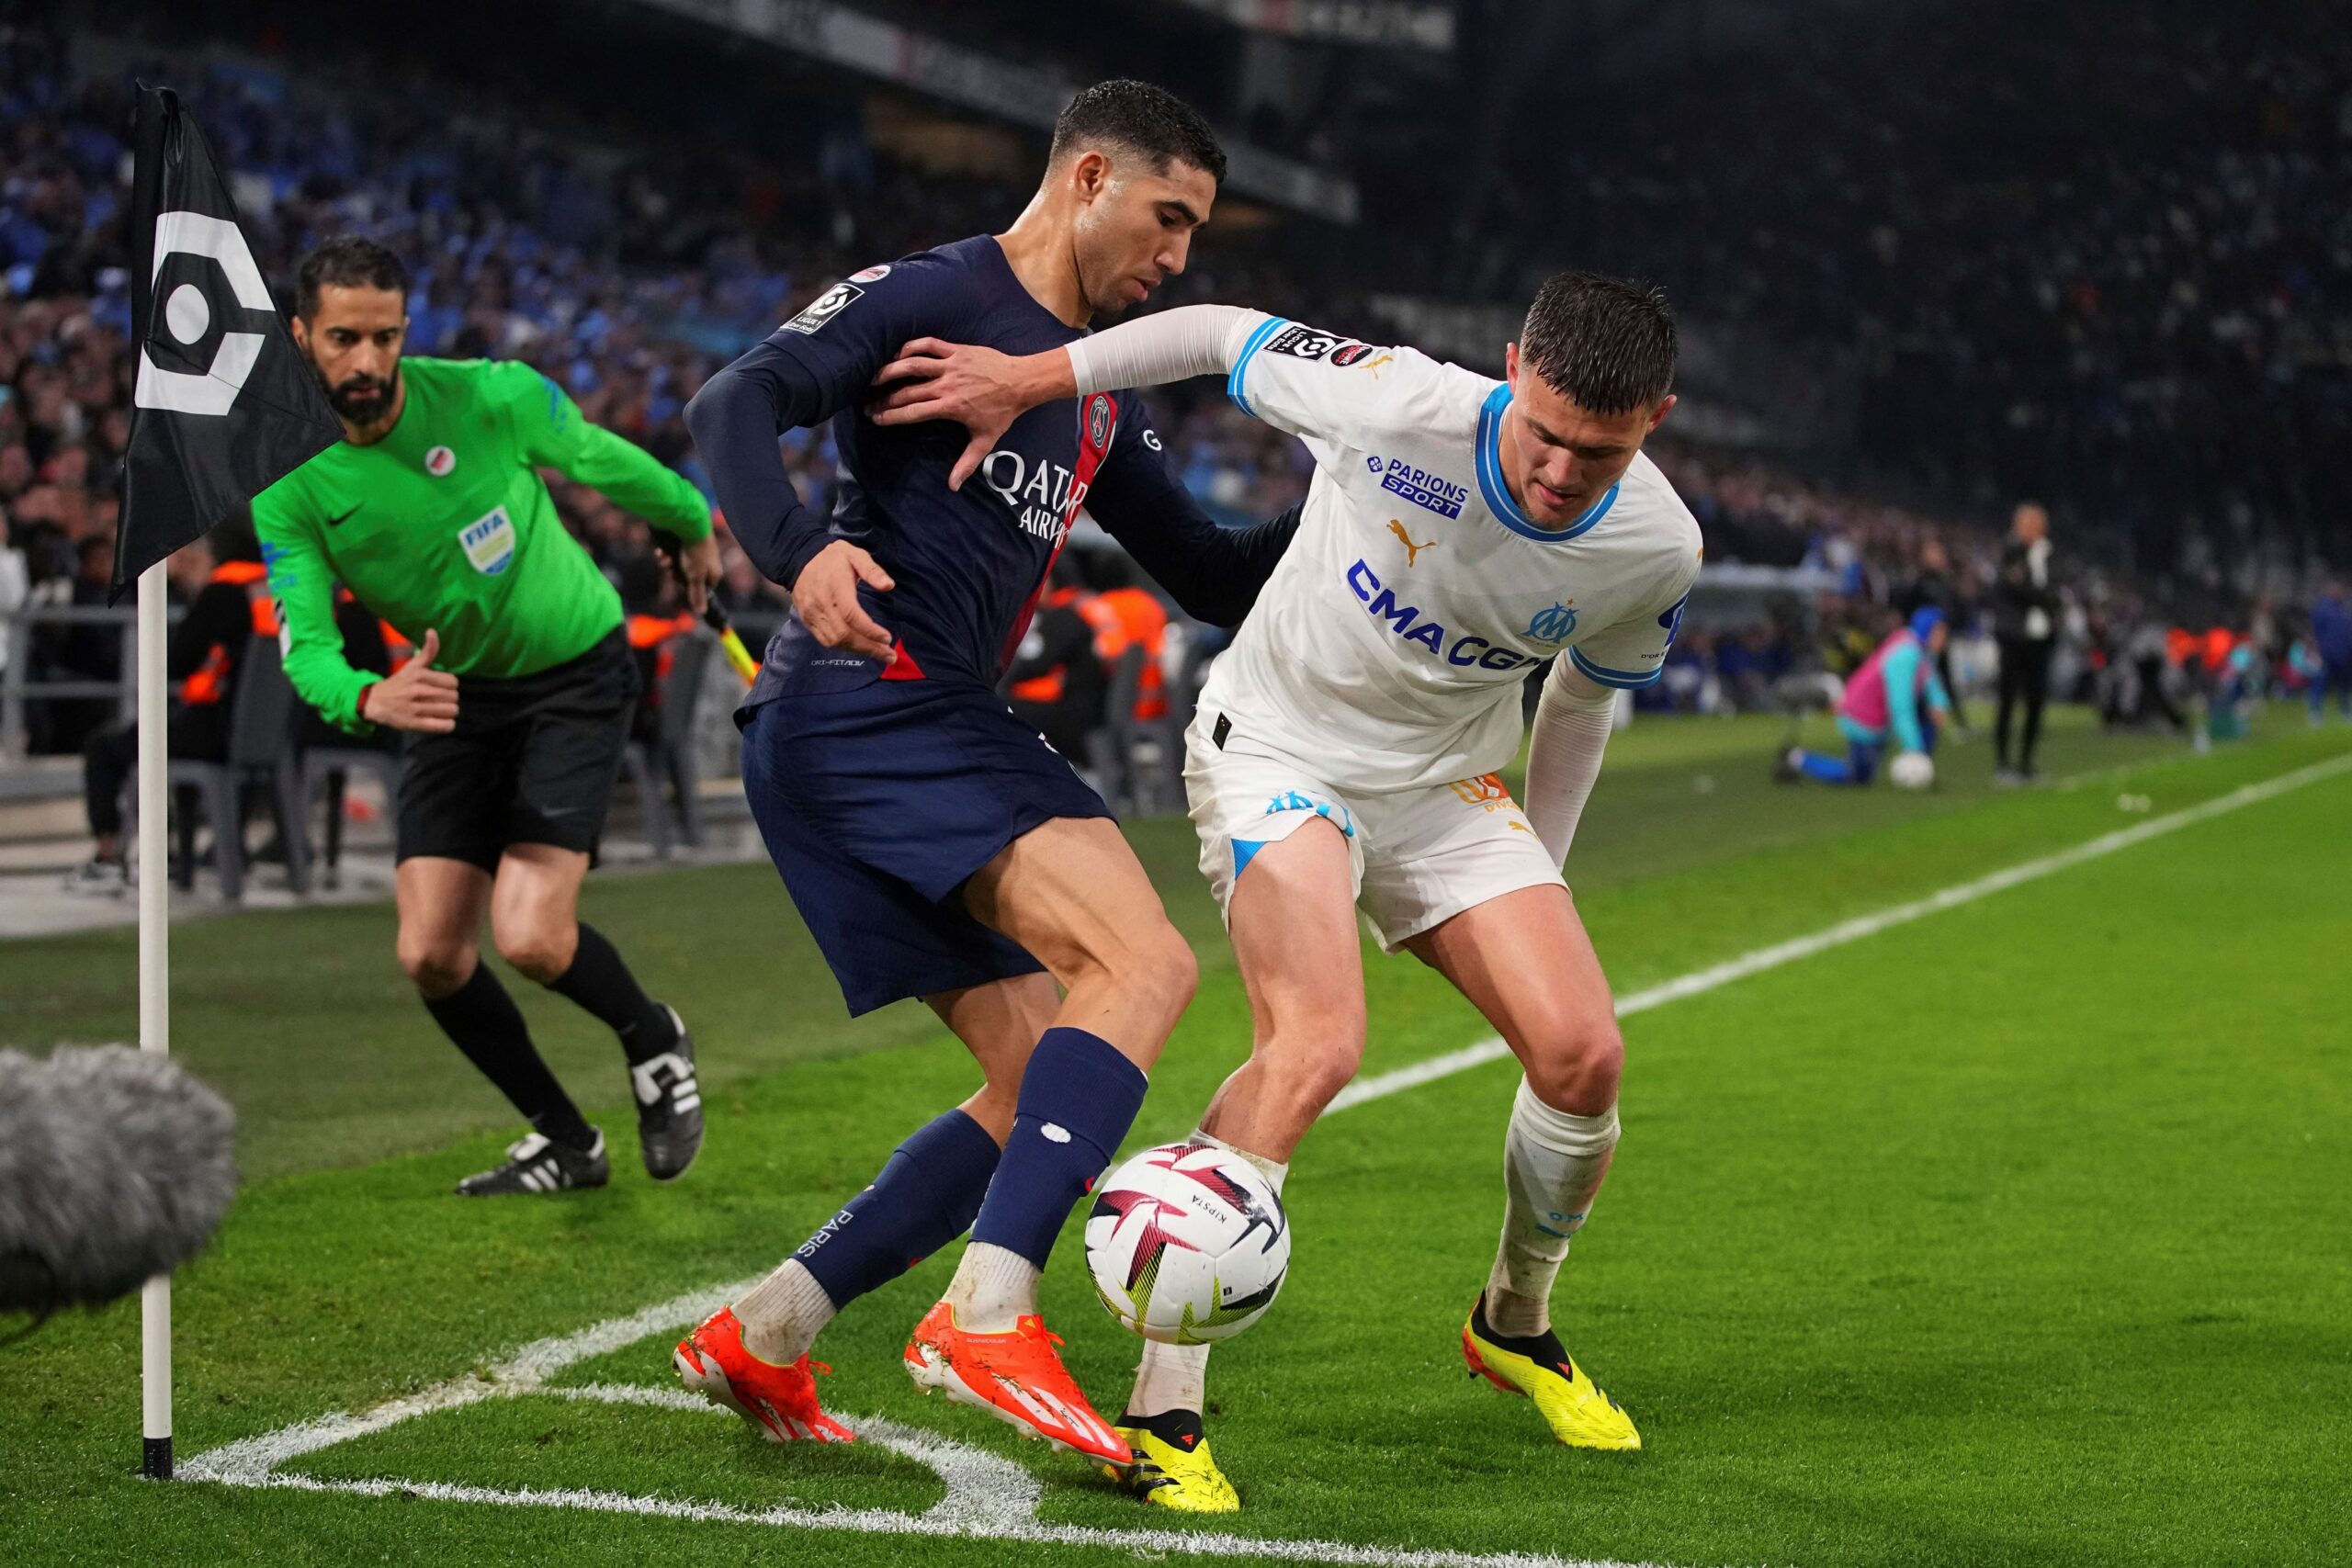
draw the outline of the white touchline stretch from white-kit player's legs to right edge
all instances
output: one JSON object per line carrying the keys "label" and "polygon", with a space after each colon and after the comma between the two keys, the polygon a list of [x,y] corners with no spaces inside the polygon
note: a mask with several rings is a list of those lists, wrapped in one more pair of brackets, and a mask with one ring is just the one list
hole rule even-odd
{"label": "white touchline stretch from white-kit player's legs to right edge", "polygon": [[[2117,832],[2103,832],[2096,839],[2084,839],[2072,849],[2060,849],[2051,856],[2039,856],[2034,860],[2020,860],[2004,870],[1990,872],[1973,882],[1962,882],[1947,886],[1940,893],[1929,893],[1926,898],[1915,898],[1910,903],[1898,903],[1886,910],[1872,910],[1870,914],[1856,914],[1853,919],[1842,919],[1835,926],[1813,931],[1811,936],[1797,936],[1785,943],[1773,943],[1769,947],[1757,947],[1743,952],[1722,964],[1710,964],[1708,969],[1665,980],[1663,985],[1651,985],[1649,990],[1637,990],[1628,997],[1618,997],[1618,1018],[1630,1018],[1632,1013],[1646,1013],[1653,1006],[1665,1006],[1668,1001],[1682,1001],[1684,997],[1698,997],[1703,992],[1731,985],[1733,980],[1745,980],[1748,976],[1759,976],[1766,969],[1780,969],[1783,964],[1795,964],[1797,959],[1809,959],[1816,952],[1828,952],[1830,947],[1844,947],[1846,943],[1858,943],[1865,936],[1877,936],[1879,931],[1891,931],[1893,926],[1907,926],[1915,919],[1926,919],[1929,914],[1940,914],[1943,910],[1957,910],[1964,903],[1976,903],[1978,898],[1990,898],[1994,893],[2009,891],[2020,882],[2034,882],[2039,877],[2051,877],[2056,872],[2082,865],[2084,860],[2098,860],[2100,856],[2112,856],[2119,849],[2131,849],[2133,844],[2145,844],[2147,839],[2159,839],[2166,832],[2178,832],[2194,823],[2206,823],[2216,816],[2227,816],[2230,811],[2241,811],[2265,799],[2286,795],[2288,790],[2300,790],[2303,785],[2319,783],[2321,778],[2336,778],[2338,773],[2352,771],[2352,752],[2343,757],[2328,757],[2326,762],[2314,762],[2310,766],[2296,769],[2291,773],[2279,773],[2277,778],[2265,778],[2263,783],[2251,783],[2227,795],[2216,795],[2197,806],[2185,806],[2169,816],[2152,816],[2145,823],[2131,827],[2119,827]],[[1378,1072],[1369,1079],[1357,1079],[1348,1088],[1334,1095],[1324,1114],[1348,1110],[1350,1105],[1364,1105],[1369,1100],[1385,1100],[1392,1093],[1404,1093],[1406,1088],[1418,1088],[1421,1084],[1435,1084],[1437,1079],[1454,1077],[1456,1072],[1468,1072],[1470,1067],[1484,1067],[1510,1056],[1510,1046],[1501,1039],[1482,1039],[1475,1046],[1463,1046],[1461,1051],[1446,1051],[1444,1056],[1432,1056],[1423,1063],[1409,1067],[1395,1067],[1392,1072]]]}

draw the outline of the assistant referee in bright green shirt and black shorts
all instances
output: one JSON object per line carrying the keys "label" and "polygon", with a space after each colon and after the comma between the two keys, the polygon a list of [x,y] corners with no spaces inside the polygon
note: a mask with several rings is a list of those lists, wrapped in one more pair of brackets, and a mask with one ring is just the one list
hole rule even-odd
{"label": "assistant referee in bright green shirt and black shorts", "polygon": [[[459,1051],[532,1121],[468,1197],[600,1187],[604,1135],[532,1046],[499,957],[602,1018],[628,1053],[654,1180],[703,1140],[694,1041],[595,926],[579,924],[637,668],[621,597],[555,515],[539,468],[677,534],[694,609],[720,574],[701,491],[590,425],[529,364],[402,360],[409,273],[339,235],[296,273],[294,343],[343,442],[254,498],[294,689],[327,719],[416,733],[400,780],[400,966]],[[343,661],[334,585],[416,644],[397,675]]]}

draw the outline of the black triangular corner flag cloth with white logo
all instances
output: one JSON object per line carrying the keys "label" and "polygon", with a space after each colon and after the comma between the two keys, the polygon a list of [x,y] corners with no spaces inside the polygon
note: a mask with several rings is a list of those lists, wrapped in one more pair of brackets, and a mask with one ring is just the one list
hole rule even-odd
{"label": "black triangular corner flag cloth with white logo", "polygon": [[111,599],[343,440],[176,92],[141,82],[134,146],[139,378]]}

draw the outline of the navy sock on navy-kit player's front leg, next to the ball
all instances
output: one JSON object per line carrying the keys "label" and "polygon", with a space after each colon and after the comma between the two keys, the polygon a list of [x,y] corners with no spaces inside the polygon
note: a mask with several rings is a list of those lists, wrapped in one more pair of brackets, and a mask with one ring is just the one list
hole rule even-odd
{"label": "navy sock on navy-kit player's front leg, next to the ball", "polygon": [[1047,1030],[1021,1074],[1014,1135],[971,1239],[1042,1269],[1070,1206],[1094,1190],[1136,1124],[1145,1086],[1143,1070],[1108,1039]]}

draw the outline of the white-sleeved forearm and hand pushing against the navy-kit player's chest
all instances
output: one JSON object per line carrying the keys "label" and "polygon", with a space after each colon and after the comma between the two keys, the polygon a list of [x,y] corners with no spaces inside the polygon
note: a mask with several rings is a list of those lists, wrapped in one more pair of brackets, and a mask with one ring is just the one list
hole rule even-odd
{"label": "white-sleeved forearm and hand pushing against the navy-kit player's chest", "polygon": [[1035,355],[915,339],[875,376],[877,425],[953,418],[971,433],[948,473],[962,489],[1007,428],[1040,402],[1230,371],[1249,334],[1270,320],[1240,306],[1181,306]]}

